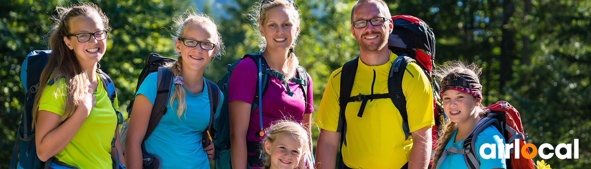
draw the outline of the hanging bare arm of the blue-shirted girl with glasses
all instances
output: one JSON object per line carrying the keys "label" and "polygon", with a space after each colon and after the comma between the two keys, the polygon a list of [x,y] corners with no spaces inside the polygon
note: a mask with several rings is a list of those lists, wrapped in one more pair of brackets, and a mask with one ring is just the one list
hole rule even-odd
{"label": "hanging bare arm of the blue-shirted girl with glasses", "polygon": [[125,161],[126,168],[142,168],[142,141],[148,130],[148,122],[152,112],[152,102],[143,94],[135,97],[134,107],[127,127],[127,136],[125,138]]}

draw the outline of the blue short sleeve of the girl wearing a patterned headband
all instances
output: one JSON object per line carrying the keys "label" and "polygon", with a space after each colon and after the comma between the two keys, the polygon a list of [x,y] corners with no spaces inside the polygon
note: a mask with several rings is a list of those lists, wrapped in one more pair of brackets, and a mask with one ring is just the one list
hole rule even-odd
{"label": "blue short sleeve of the girl wearing a patterned headband", "polygon": [[[506,168],[505,158],[498,158],[499,155],[501,155],[501,157],[505,157],[504,154],[496,154],[497,158],[489,158],[489,159],[482,158],[482,155],[480,155],[480,147],[483,144],[487,144],[487,143],[488,144],[495,144],[496,149],[498,149],[497,147],[499,144],[505,145],[505,140],[504,140],[503,136],[492,125],[489,126],[488,128],[486,128],[485,130],[483,130],[482,132],[480,132],[480,134],[476,138],[476,156],[478,157],[478,160],[480,161],[480,168],[482,168],[482,169]],[[495,150],[495,151],[496,151],[496,153],[503,153],[502,151],[498,151],[498,150]],[[491,154],[491,149],[486,148],[484,150],[484,153]]]}

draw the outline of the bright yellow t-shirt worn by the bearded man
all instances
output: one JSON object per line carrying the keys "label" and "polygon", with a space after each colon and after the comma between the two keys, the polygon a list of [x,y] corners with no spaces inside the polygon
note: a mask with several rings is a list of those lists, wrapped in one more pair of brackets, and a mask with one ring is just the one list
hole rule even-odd
{"label": "bright yellow t-shirt worn by the bearded man", "polygon": [[[388,64],[369,66],[359,61],[350,96],[388,93],[388,74],[397,58],[390,54]],[[339,92],[341,68],[334,71],[316,115],[316,124],[328,131],[339,129]],[[372,88],[373,87],[373,88]],[[402,79],[402,92],[407,100],[410,132],[433,126],[433,93],[426,75],[417,64],[408,64]],[[402,117],[390,98],[368,100],[363,117],[358,117],[361,101],[349,102],[345,112],[346,145],[343,161],[351,168],[400,168],[407,163],[413,145],[412,136],[405,141]],[[430,145],[430,144],[427,144]]]}

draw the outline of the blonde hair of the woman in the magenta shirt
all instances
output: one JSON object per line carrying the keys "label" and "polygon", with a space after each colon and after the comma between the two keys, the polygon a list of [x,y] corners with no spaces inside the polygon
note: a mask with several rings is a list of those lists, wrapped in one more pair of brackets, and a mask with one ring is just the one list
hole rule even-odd
{"label": "blonde hair of the woman in the magenta shirt", "polygon": [[[288,2],[286,0],[275,0],[272,2],[268,2],[265,4],[261,5],[261,2],[258,2],[255,4],[255,6],[253,6],[251,14],[249,16],[249,19],[251,21],[254,21],[254,23],[252,24],[252,28],[255,29],[255,31],[257,33],[259,33],[259,25],[264,25],[264,23],[267,21],[267,15],[268,15],[268,11],[270,9],[273,8],[277,8],[277,7],[284,7],[287,8],[288,11],[290,12],[290,18],[294,19],[295,24],[294,26],[300,26],[300,11],[298,9],[296,9],[295,6],[295,2],[294,4],[291,4],[291,2]],[[265,38],[262,37],[261,34],[258,34],[259,38],[260,38],[260,45],[259,47],[261,48],[265,48],[267,47],[267,42],[265,41]],[[287,72],[285,72],[285,79],[283,80],[283,82],[287,82],[290,81],[291,78],[293,78],[296,75],[296,68],[297,66],[300,64],[300,61],[298,60],[298,58],[296,57],[296,54],[294,53],[294,48],[296,47],[296,42],[298,40],[298,37],[300,36],[300,31],[297,32],[296,34],[296,38],[294,39],[293,44],[291,44],[290,47],[290,52],[288,52],[288,56],[287,56],[287,63],[289,65],[289,69]]]}

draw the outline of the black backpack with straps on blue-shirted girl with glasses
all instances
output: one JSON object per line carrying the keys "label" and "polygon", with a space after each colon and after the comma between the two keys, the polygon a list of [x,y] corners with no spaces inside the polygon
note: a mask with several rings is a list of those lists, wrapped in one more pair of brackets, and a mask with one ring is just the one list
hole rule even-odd
{"label": "black backpack with straps on blue-shirted girl with glasses", "polygon": [[[176,62],[176,59],[161,57],[158,54],[151,53],[145,59],[144,69],[139,74],[138,84],[135,88],[135,92],[138,91],[139,85],[144,82],[144,79],[148,76],[148,74],[152,72],[158,72],[158,82],[157,82],[157,94],[154,100],[154,106],[152,107],[152,112],[150,114],[150,121],[148,122],[148,129],[144,135],[144,140],[147,140],[148,137],[152,134],[158,122],[160,122],[162,116],[166,114],[167,108],[166,105],[168,104],[168,100],[170,97],[170,91],[173,87],[173,72],[171,72],[170,68],[163,67],[167,62]],[[203,140],[206,142],[203,144],[203,147],[211,144],[212,137],[211,135],[214,133],[212,130],[213,124],[213,115],[216,112],[217,105],[220,103],[220,95],[219,88],[217,85],[209,80],[204,81],[207,89],[209,91],[209,100],[210,100],[210,118],[209,118],[209,125],[207,125],[206,130],[203,131]],[[127,112],[129,113],[129,117],[131,117],[131,110],[134,106],[135,98],[129,102],[129,106],[127,107]],[[128,124],[128,122],[125,122]],[[124,124],[125,125],[125,124]],[[122,130],[121,135],[126,134],[126,129]],[[124,137],[122,137],[122,141],[124,142]],[[124,148],[125,150],[125,148]],[[158,158],[154,154],[149,154],[145,151],[145,148],[142,143],[142,153],[144,158],[144,168],[160,168],[160,158]]]}

